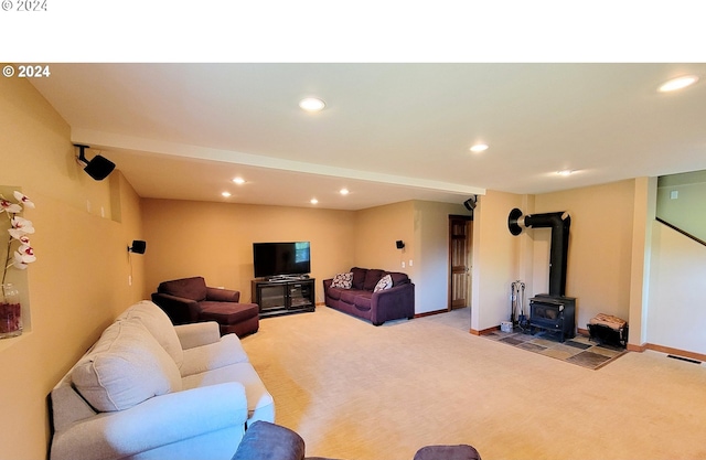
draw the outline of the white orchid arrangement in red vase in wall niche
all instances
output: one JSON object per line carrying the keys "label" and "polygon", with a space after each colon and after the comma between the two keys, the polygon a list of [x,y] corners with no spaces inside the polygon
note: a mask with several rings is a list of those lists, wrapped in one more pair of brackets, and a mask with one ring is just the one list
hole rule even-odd
{"label": "white orchid arrangement in red vase in wall niche", "polygon": [[[0,292],[0,339],[22,333],[22,307],[17,289],[6,284],[8,269],[14,267],[24,270],[28,264],[36,260],[28,236],[34,233],[32,222],[18,215],[23,207],[34,207],[34,203],[21,192],[15,191],[13,195],[17,203],[0,195],[0,213],[4,213],[10,222]],[[15,246],[14,250],[12,250],[13,246]]]}

